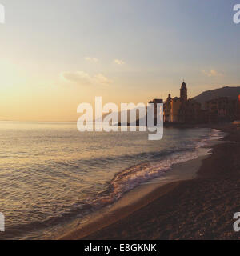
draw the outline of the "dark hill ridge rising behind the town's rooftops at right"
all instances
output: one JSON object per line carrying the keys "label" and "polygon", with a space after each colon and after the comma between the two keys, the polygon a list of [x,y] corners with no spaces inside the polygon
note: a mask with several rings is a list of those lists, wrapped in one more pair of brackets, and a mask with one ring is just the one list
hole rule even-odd
{"label": "dark hill ridge rising behind the town's rooftops at right", "polygon": [[240,94],[240,86],[237,86],[237,87],[225,86],[215,90],[206,90],[202,94],[199,94],[198,96],[194,97],[194,100],[201,103],[202,106],[204,106],[204,103],[206,101],[209,101],[214,98],[229,97],[233,99],[238,99],[239,94]]}

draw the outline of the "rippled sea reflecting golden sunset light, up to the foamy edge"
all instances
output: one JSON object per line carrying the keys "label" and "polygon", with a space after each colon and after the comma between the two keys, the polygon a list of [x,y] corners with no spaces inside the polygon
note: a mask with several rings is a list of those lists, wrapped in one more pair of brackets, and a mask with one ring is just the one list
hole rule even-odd
{"label": "rippled sea reflecting golden sunset light, up to the foamy edge", "polygon": [[210,129],[80,133],[75,123],[0,122],[0,238],[44,238],[178,163],[207,154]]}

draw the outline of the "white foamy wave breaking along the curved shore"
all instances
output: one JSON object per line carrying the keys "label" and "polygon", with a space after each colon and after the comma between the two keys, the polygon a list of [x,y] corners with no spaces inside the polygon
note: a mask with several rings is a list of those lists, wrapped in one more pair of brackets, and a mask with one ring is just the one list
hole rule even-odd
{"label": "white foamy wave breaking along the curved shore", "polygon": [[223,137],[223,133],[220,130],[212,129],[207,137],[202,138],[199,142],[194,142],[190,146],[190,148],[193,147],[191,149],[186,148],[185,151],[174,152],[167,155],[164,159],[145,162],[123,170],[110,182],[110,191],[99,198],[90,200],[90,205],[97,209],[110,205],[136,186],[166,175],[173,166],[210,154],[213,144]]}

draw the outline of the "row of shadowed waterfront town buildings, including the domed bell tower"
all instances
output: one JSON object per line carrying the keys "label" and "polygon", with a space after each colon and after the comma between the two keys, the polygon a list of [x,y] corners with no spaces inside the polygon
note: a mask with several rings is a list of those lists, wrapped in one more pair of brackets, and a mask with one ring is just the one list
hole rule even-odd
{"label": "row of shadowed waterfront town buildings, including the domed bell tower", "polygon": [[165,123],[222,123],[240,119],[240,95],[238,98],[212,98],[201,104],[194,98],[188,98],[187,91],[186,82],[182,82],[180,97],[172,98],[169,94],[165,102],[155,98],[150,103],[155,106],[163,103]]}

